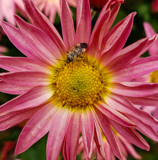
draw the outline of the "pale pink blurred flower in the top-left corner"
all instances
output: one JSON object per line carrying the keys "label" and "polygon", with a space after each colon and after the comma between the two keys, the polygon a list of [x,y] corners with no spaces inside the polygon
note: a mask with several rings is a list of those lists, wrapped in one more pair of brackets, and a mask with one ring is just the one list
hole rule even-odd
{"label": "pale pink blurred flower in the top-left corner", "polygon": [[11,24],[15,24],[16,10],[24,10],[22,0],[0,0],[0,20],[4,18]]}

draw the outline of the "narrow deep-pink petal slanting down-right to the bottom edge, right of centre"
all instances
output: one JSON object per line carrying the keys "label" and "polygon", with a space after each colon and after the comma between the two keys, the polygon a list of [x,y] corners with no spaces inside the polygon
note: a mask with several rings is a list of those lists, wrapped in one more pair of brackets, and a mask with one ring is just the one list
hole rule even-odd
{"label": "narrow deep-pink petal slanting down-right to the bottom edge, right of centre", "polygon": [[97,120],[99,121],[100,127],[108,143],[110,144],[113,153],[116,157],[121,158],[122,154],[118,145],[118,141],[112,131],[109,120],[99,110],[96,111]]}

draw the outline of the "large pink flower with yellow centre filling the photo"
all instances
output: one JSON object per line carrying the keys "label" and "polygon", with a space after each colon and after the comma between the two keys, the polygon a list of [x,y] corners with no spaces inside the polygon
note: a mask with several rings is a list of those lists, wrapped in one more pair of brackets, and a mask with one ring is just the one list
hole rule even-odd
{"label": "large pink flower with yellow centre filling the photo", "polygon": [[63,39],[30,0],[24,3],[32,24],[18,16],[18,28],[2,23],[8,38],[26,57],[0,57],[0,67],[9,71],[0,74],[0,91],[19,95],[0,107],[0,130],[28,120],[16,155],[49,132],[48,160],[58,159],[61,148],[65,159],[75,159],[80,134],[87,157],[92,156],[95,142],[106,158],[102,133],[113,154],[122,158],[113,128],[131,144],[149,150],[137,130],[158,141],[153,129],[158,121],[135,108],[129,98],[157,94],[158,84],[130,81],[158,69],[156,56],[137,59],[157,36],[123,48],[135,13],[109,31],[119,2],[104,6],[91,33],[89,0],[78,0],[75,32],[68,3],[61,2]]}

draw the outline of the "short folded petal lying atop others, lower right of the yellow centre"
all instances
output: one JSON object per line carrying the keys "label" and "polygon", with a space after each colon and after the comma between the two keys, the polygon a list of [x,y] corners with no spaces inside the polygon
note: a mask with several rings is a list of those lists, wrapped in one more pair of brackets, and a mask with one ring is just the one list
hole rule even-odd
{"label": "short folded petal lying atop others, lower right of the yellow centre", "polygon": [[122,124],[123,126],[126,127],[135,126],[135,124],[131,122],[128,118],[126,118],[123,114],[107,106],[104,103],[101,103],[100,105],[98,104],[97,109],[100,110],[102,114],[107,116],[109,119],[113,119],[114,121]]}

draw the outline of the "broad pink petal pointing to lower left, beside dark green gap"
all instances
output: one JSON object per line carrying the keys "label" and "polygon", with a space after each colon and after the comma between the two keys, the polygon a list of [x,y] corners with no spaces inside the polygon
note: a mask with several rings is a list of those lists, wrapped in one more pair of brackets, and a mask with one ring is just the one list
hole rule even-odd
{"label": "broad pink petal pointing to lower left, beside dark green gap", "polygon": [[50,130],[56,110],[57,107],[48,103],[31,117],[18,138],[15,155],[27,150]]}

